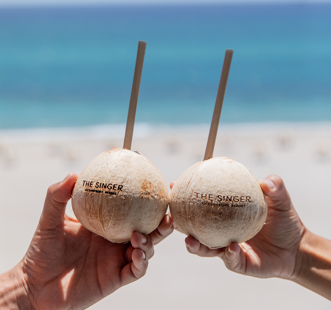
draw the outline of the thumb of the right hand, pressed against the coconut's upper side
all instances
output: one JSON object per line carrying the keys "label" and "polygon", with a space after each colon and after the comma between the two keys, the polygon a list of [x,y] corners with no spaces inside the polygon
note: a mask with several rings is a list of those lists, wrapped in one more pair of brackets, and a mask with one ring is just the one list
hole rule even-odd
{"label": "thumb of the right hand, pressed against the coconut's upper side", "polygon": [[281,177],[269,175],[260,181],[260,186],[269,207],[278,210],[289,210],[291,208],[291,197]]}

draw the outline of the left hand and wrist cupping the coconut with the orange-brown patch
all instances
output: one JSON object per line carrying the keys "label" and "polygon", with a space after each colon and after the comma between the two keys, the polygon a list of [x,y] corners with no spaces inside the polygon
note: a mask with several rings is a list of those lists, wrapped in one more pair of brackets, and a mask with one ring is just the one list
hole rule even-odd
{"label": "left hand and wrist cupping the coconut with the orange-brown patch", "polygon": [[77,175],[49,187],[39,224],[21,262],[0,275],[1,309],[86,309],[141,278],[157,244],[172,230],[165,216],[150,235],[111,243],[65,213]]}

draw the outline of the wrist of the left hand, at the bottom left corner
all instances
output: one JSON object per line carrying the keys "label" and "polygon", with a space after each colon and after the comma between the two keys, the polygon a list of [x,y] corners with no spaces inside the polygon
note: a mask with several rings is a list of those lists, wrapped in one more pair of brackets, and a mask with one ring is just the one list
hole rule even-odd
{"label": "wrist of the left hand, at the bottom left corner", "polygon": [[0,309],[32,310],[27,298],[20,264],[0,275]]}

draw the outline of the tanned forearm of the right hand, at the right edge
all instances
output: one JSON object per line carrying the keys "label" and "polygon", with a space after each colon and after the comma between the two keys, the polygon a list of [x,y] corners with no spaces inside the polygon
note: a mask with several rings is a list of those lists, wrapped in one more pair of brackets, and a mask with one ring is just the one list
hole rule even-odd
{"label": "tanned forearm of the right hand, at the right edge", "polygon": [[331,300],[331,241],[306,231],[293,281]]}

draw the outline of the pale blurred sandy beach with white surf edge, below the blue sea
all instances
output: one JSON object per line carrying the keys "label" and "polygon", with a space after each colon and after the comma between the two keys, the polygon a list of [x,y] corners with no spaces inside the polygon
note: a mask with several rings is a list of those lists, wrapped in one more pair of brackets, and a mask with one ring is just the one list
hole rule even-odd
{"label": "pale blurred sandy beach with white surf edge, below the blue sea", "polygon": [[[0,272],[23,257],[48,186],[71,171],[79,174],[99,153],[122,147],[124,131],[124,125],[0,131]],[[131,149],[170,184],[203,160],[208,133],[209,125],[136,124]],[[331,239],[331,123],[222,124],[214,150],[220,155],[248,166],[258,179],[281,176],[307,228]],[[67,213],[73,216],[70,202]],[[184,238],[175,231],[156,246],[143,279],[90,309],[330,309],[328,300],[290,281],[238,275],[219,258],[189,254]]]}

